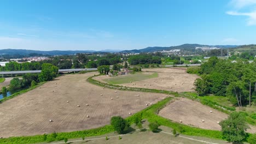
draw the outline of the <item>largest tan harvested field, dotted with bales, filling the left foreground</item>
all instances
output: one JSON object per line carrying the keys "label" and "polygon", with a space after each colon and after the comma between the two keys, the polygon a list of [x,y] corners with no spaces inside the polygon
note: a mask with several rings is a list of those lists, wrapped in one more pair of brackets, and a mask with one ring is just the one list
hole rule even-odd
{"label": "largest tan harvested field, dotted with bales, filling the left foreground", "polygon": [[94,74],[97,72],[60,76],[4,101],[0,104],[0,137],[97,128],[109,124],[112,116],[130,116],[129,112],[133,114],[167,97],[91,85],[86,79]]}

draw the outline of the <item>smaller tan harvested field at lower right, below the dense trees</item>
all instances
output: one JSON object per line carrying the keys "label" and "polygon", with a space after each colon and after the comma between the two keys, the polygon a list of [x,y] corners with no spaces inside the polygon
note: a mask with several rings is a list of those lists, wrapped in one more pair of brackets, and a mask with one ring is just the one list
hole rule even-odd
{"label": "smaller tan harvested field at lower right, below the dense trees", "polygon": [[[212,113],[210,111],[212,111]],[[221,127],[217,122],[228,118],[228,115],[225,113],[202,105],[197,101],[185,98],[180,98],[179,100],[173,101],[171,104],[164,107],[164,109],[159,112],[159,115],[172,119],[176,122],[181,120],[183,124],[187,124],[192,127],[211,130],[221,130]],[[202,122],[202,119],[205,122]],[[250,127],[251,129],[248,129],[248,132],[255,133],[255,127],[252,125],[250,125]]]}

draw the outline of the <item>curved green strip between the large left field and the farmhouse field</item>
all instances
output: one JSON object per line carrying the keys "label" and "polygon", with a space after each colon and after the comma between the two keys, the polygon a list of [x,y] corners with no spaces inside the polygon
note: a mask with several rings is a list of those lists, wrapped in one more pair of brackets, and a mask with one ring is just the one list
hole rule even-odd
{"label": "curved green strip between the large left field and the farmhouse field", "polygon": [[[98,76],[98,75],[95,75]],[[108,83],[103,83],[100,81],[97,81],[95,79],[92,79],[92,77],[95,76],[91,76],[87,79],[88,82],[97,85],[97,86],[101,86],[101,87],[107,87],[110,89],[119,89],[122,91],[136,91],[136,92],[149,92],[149,93],[162,93],[162,94],[170,94],[170,95],[174,95],[175,97],[178,97],[179,94],[177,92],[172,92],[172,91],[165,91],[165,90],[159,90],[159,89],[148,89],[148,88],[138,88],[138,87],[126,87],[126,86],[119,86],[119,85],[112,85],[112,84],[108,84]]]}

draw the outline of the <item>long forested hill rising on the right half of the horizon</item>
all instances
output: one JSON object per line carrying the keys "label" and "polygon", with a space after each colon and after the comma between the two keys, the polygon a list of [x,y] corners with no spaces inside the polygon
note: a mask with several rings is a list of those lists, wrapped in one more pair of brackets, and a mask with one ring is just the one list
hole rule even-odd
{"label": "long forested hill rising on the right half of the horizon", "polygon": [[121,52],[126,53],[140,53],[140,52],[154,52],[154,51],[162,51],[162,50],[186,50],[186,51],[194,51],[195,47],[218,47],[218,48],[234,48],[237,47],[237,45],[200,45],[200,44],[183,44],[178,46],[170,46],[170,47],[160,47],[160,46],[154,46],[154,47],[147,47],[145,49],[140,50],[126,50]]}

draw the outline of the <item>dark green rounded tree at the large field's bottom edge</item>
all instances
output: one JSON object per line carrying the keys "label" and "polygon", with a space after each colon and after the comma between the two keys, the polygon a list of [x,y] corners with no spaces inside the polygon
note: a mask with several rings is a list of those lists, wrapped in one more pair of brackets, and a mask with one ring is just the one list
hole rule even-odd
{"label": "dark green rounded tree at the large field's bottom edge", "polygon": [[130,127],[129,123],[120,116],[114,116],[110,119],[110,124],[114,127],[114,130],[119,134],[123,134],[124,131]]}

